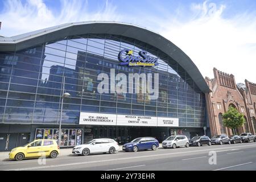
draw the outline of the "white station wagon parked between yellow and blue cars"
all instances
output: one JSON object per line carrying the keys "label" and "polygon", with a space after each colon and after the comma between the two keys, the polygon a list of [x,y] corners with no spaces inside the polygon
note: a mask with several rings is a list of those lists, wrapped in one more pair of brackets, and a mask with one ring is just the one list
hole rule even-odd
{"label": "white station wagon parked between yellow and blue cars", "polygon": [[110,153],[115,154],[119,150],[118,143],[113,139],[100,138],[93,139],[85,144],[75,146],[72,150],[72,154],[77,155],[89,155],[95,153]]}

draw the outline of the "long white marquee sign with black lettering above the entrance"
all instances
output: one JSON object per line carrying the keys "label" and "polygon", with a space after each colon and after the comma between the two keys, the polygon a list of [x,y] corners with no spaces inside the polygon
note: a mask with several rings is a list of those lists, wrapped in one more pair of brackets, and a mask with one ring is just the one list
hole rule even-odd
{"label": "long white marquee sign with black lettering above the entrance", "polygon": [[178,118],[123,114],[80,113],[80,125],[178,127]]}

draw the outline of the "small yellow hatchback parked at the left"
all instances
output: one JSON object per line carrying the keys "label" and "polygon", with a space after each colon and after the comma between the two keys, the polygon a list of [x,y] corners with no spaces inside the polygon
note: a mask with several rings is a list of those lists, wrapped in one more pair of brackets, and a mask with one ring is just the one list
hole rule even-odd
{"label": "small yellow hatchback parked at the left", "polygon": [[60,154],[59,149],[56,140],[39,139],[11,150],[9,159],[23,160],[24,158],[39,158],[42,156],[56,158]]}

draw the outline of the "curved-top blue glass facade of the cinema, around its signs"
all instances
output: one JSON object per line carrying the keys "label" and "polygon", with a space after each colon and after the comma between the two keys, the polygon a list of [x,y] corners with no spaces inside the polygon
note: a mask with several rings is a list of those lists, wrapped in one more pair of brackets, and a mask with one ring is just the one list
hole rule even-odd
{"label": "curved-top blue glass facade of the cinema, around its signs", "polygon": [[[131,49],[159,57],[155,67],[119,65]],[[159,98],[146,94],[100,94],[100,73],[159,73]],[[203,127],[205,96],[171,57],[138,40],[114,35],[81,35],[16,52],[0,53],[0,122],[57,124],[65,77],[63,124],[79,124],[80,112],[179,118],[180,127]]]}

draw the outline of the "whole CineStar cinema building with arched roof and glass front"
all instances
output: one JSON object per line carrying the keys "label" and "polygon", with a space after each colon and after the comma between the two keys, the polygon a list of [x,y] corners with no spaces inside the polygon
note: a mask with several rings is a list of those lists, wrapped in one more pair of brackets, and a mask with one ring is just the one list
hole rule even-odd
{"label": "whole CineStar cinema building with arched roof and glass front", "polygon": [[61,147],[210,135],[209,86],[181,49],[131,24],[81,22],[0,37],[0,151],[58,139],[64,92]]}

